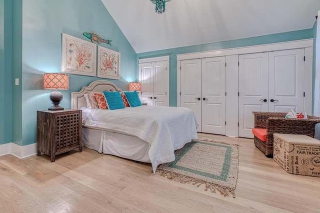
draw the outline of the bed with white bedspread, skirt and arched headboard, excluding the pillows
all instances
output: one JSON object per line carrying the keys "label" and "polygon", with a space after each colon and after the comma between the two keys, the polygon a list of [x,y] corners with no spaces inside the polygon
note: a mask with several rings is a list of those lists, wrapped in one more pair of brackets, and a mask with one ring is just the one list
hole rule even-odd
{"label": "bed with white bedspread, skirt and arched headboard, excluding the pillows", "polygon": [[198,122],[183,107],[137,106],[105,110],[86,107],[89,91],[121,91],[114,83],[96,80],[71,92],[71,108],[82,110],[82,143],[99,153],[112,154],[156,167],[175,159],[174,150],[197,138]]}

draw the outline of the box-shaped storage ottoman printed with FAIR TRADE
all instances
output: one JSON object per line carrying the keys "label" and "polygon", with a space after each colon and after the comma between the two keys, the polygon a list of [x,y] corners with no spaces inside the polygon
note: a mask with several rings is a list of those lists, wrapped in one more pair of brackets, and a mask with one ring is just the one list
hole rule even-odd
{"label": "box-shaped storage ottoman printed with FAIR TRADE", "polygon": [[273,159],[290,174],[320,177],[320,140],[301,134],[273,134]]}

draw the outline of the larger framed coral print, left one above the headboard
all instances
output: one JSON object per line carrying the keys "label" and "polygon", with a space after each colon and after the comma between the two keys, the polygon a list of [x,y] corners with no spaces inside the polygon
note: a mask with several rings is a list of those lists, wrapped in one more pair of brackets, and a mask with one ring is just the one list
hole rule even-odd
{"label": "larger framed coral print, left one above the headboard", "polygon": [[62,72],[96,75],[96,44],[62,33]]}

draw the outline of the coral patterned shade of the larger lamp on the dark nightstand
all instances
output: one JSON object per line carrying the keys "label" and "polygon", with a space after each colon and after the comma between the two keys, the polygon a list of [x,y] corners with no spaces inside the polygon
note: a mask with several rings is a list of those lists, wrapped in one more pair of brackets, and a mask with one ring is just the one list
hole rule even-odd
{"label": "coral patterned shade of the larger lamp on the dark nightstand", "polygon": [[44,89],[69,89],[69,76],[63,73],[44,73]]}

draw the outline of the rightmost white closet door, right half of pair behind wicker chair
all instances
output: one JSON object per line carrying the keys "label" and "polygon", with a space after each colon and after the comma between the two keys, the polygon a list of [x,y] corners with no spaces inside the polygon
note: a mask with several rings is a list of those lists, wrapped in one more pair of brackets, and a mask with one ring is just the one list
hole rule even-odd
{"label": "rightmost white closet door, right half of pair behind wicker chair", "polygon": [[304,49],[269,52],[269,111],[303,111]]}

